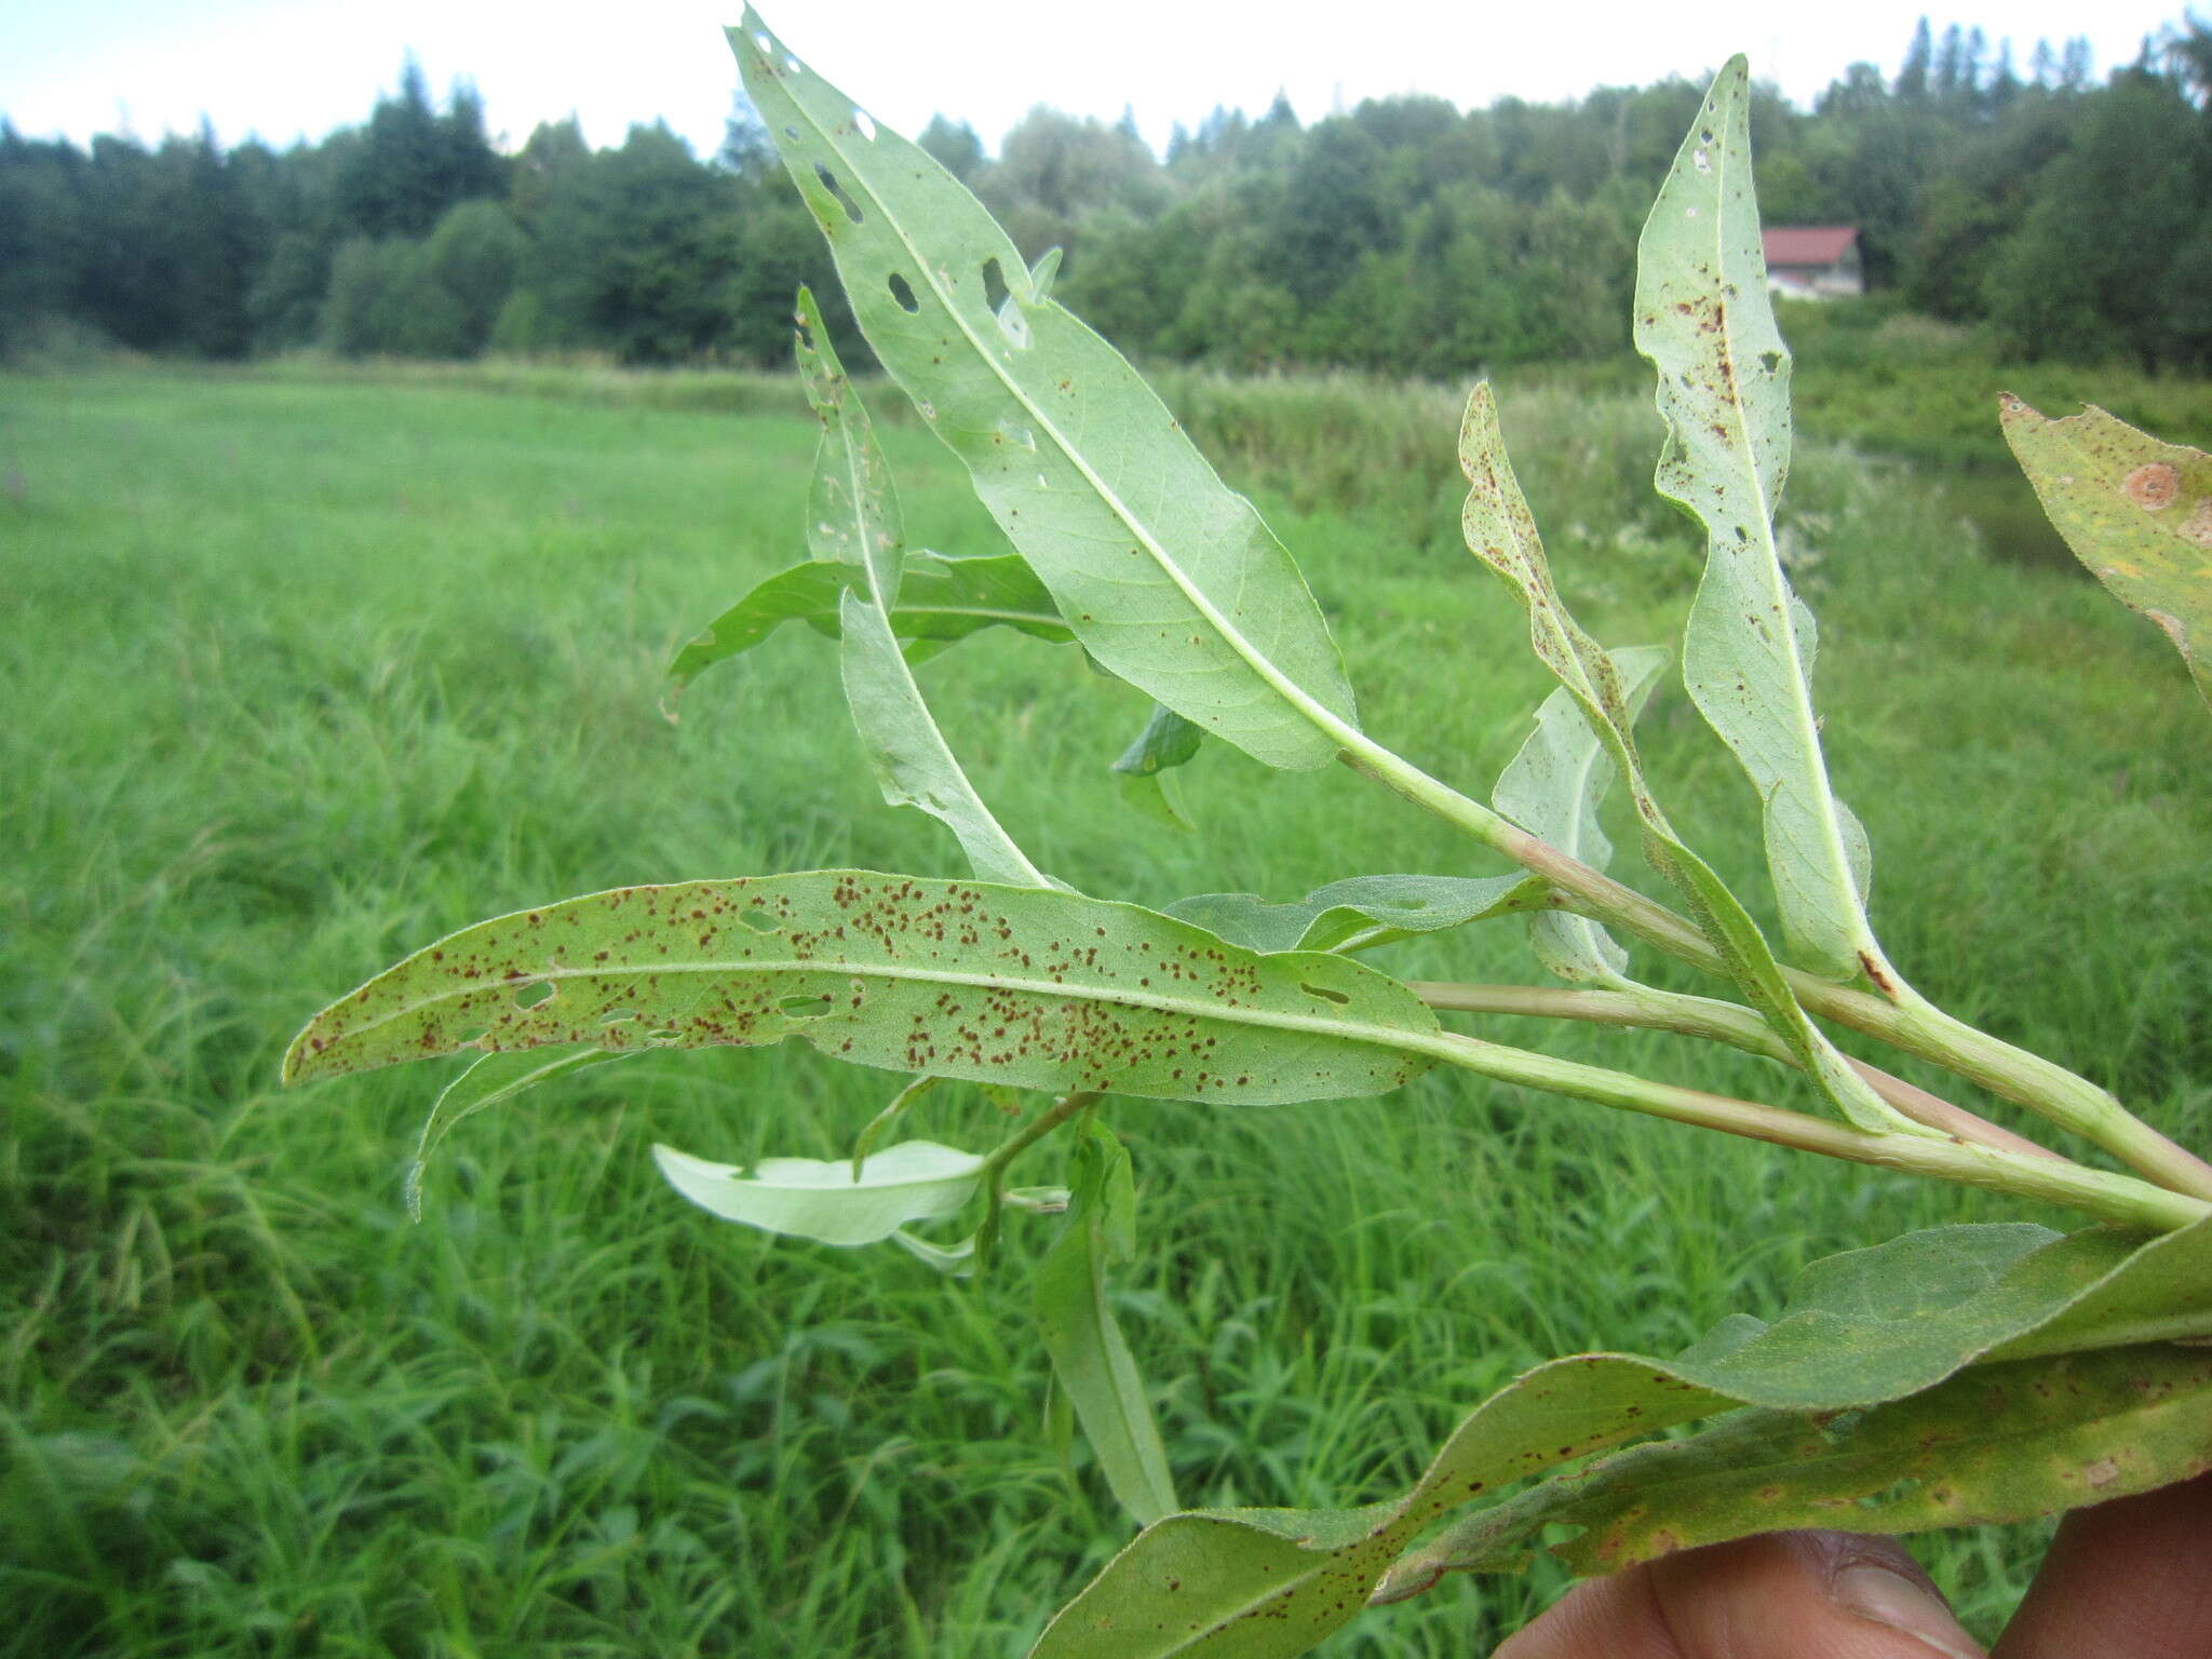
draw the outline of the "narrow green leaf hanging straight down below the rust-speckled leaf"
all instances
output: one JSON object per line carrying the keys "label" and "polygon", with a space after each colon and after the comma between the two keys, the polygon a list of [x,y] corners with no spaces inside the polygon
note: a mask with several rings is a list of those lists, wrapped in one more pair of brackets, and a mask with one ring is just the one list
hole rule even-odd
{"label": "narrow green leaf hanging straight down below the rust-speckled leaf", "polygon": [[1106,1128],[1084,1126],[1071,1188],[1068,1223],[1037,1263],[1037,1329],[1099,1473],[1144,1526],[1175,1509],[1175,1480],[1137,1360],[1106,1303],[1106,1263],[1130,1254],[1137,1210],[1128,1152]]}

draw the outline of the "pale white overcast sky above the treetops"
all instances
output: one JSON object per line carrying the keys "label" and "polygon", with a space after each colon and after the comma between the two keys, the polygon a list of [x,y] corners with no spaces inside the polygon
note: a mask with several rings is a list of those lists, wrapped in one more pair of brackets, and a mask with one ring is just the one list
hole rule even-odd
{"label": "pale white overcast sky above the treetops", "polygon": [[[1290,93],[1307,122],[1363,97],[1436,93],[1559,100],[1601,84],[1701,77],[1734,51],[1809,104],[1845,64],[1896,73],[1927,0],[1705,0],[1701,7],[1363,0],[1305,11],[1252,0],[776,0],[765,20],[878,119],[916,133],[942,111],[984,144],[1033,104],[1137,124],[1164,148],[1214,104],[1261,113]],[[2179,0],[2002,0],[1962,15],[2008,35],[2086,33],[2101,77]],[[201,115],[234,144],[358,124],[414,53],[438,100],[473,80],[509,146],[575,113],[593,144],[666,119],[710,155],[737,84],[726,7],[684,0],[0,0],[0,115],[27,137],[188,133]],[[1933,18],[1938,33],[1949,22]]]}

